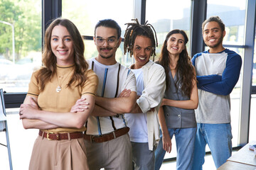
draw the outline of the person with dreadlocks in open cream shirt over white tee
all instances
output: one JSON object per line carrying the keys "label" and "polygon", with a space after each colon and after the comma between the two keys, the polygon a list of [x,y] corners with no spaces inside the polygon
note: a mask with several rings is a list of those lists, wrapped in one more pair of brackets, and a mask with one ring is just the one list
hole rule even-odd
{"label": "person with dreadlocks in open cream shirt over white tee", "polygon": [[125,113],[132,142],[134,169],[154,169],[154,150],[159,141],[157,113],[165,91],[165,72],[149,60],[155,56],[156,33],[150,24],[128,23],[124,34],[124,54],[134,56],[131,69],[137,81],[137,103],[132,113]]}

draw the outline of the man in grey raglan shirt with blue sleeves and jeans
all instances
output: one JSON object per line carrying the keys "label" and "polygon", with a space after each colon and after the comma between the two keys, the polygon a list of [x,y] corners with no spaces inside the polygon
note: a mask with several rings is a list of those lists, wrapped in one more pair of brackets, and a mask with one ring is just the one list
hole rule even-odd
{"label": "man in grey raglan shirt with blue sleeves and jeans", "polygon": [[204,21],[202,30],[209,50],[194,55],[192,59],[199,96],[193,157],[195,170],[202,169],[206,144],[216,168],[231,156],[230,93],[239,79],[242,65],[240,55],[223,47],[225,25],[218,16]]}

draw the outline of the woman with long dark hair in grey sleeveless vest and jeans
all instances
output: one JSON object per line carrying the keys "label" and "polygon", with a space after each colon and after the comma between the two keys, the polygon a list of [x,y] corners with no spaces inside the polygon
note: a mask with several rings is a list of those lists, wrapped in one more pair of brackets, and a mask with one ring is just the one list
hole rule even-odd
{"label": "woman with long dark hair in grey sleeveless vest and jeans", "polygon": [[188,37],[183,30],[166,35],[159,64],[166,72],[166,91],[159,110],[161,139],[156,148],[156,168],[160,169],[166,152],[171,152],[171,138],[177,147],[176,169],[191,169],[196,137],[195,111],[198,107],[196,72],[186,50]]}

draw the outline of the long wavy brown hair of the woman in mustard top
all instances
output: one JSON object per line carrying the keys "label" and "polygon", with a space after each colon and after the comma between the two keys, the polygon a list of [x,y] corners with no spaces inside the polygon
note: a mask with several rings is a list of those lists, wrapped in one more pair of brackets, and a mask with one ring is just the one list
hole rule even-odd
{"label": "long wavy brown hair of the woman in mustard top", "polygon": [[74,82],[76,82],[75,86],[83,86],[86,81],[85,72],[88,69],[88,64],[84,57],[85,45],[82,40],[82,36],[80,35],[78,28],[70,20],[65,18],[57,18],[50,23],[50,26],[48,26],[46,29],[42,56],[43,67],[38,71],[37,75],[37,82],[40,91],[43,91],[45,84],[56,74],[57,59],[50,47],[51,33],[55,26],[64,26],[67,28],[68,33],[70,33],[73,40],[75,70],[67,86],[70,87]]}

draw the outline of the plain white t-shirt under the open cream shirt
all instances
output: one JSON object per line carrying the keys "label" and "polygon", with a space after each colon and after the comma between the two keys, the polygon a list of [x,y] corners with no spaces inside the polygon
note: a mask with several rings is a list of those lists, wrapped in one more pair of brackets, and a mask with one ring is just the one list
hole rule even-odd
{"label": "plain white t-shirt under the open cream shirt", "polygon": [[[132,69],[136,77],[137,95],[144,90],[142,69]],[[130,128],[129,137],[132,142],[148,142],[146,113],[125,113],[127,126]]]}

